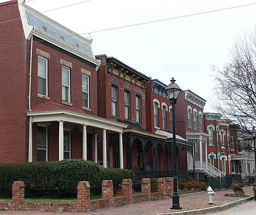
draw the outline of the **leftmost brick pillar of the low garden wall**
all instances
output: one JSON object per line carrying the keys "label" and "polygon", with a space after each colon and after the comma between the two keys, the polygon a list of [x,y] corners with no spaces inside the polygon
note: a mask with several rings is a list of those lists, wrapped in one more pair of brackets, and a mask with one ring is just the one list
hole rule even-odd
{"label": "leftmost brick pillar of the low garden wall", "polygon": [[25,184],[23,181],[14,181],[13,183],[12,207],[14,210],[21,209],[25,204]]}

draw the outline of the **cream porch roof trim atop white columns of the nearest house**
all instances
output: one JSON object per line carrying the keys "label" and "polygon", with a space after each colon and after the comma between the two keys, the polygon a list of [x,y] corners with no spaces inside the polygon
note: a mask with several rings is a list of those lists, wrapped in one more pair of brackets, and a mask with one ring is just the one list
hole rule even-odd
{"label": "cream porch roof trim atop white columns of the nearest house", "polygon": [[51,122],[66,121],[80,125],[94,126],[101,129],[112,130],[122,133],[127,127],[125,123],[113,122],[108,119],[97,117],[96,115],[77,113],[69,110],[46,110],[27,112],[27,116],[31,117],[31,122]]}

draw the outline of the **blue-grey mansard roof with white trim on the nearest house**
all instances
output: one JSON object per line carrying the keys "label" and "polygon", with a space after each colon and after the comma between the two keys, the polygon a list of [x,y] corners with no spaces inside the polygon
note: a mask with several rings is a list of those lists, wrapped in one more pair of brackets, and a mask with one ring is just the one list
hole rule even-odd
{"label": "blue-grey mansard roof with white trim on the nearest house", "polygon": [[[20,3],[20,0],[19,0]],[[92,39],[86,39],[47,16],[27,6],[19,4],[20,16],[26,39],[35,35],[42,41],[47,41],[57,47],[82,57],[91,63],[98,65],[92,50]]]}

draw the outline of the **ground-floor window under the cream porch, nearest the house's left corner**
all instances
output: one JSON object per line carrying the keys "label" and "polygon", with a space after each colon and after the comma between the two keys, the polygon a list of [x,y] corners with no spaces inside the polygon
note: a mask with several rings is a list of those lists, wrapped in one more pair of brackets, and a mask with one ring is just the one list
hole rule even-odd
{"label": "ground-floor window under the cream porch, nearest the house's left corner", "polygon": [[38,126],[37,161],[47,161],[47,127]]}

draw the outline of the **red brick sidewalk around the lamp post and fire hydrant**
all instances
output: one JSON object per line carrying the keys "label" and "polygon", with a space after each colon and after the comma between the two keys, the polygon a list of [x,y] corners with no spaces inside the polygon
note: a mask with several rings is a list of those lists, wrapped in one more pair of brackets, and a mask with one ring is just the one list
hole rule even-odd
{"label": "red brick sidewalk around the lamp post and fire hydrant", "polygon": [[[246,186],[243,187],[243,191],[246,195],[253,196],[253,186]],[[81,213],[68,213],[68,212],[58,212],[58,213],[47,213],[43,211],[0,211],[0,214],[88,214],[88,215],[113,215],[113,214],[120,214],[120,215],[135,215],[135,214],[144,214],[144,215],[156,215],[156,214],[175,214],[179,212],[179,214],[204,214],[203,210],[196,210],[196,209],[208,209],[208,213],[210,210],[217,210],[221,209],[228,209],[235,204],[231,202],[235,202],[237,200],[242,200],[245,198],[242,197],[225,197],[225,193],[233,193],[230,189],[225,189],[221,191],[216,191],[216,194],[213,196],[213,204],[208,204],[208,194],[207,192],[200,192],[191,195],[181,195],[180,196],[180,206],[183,208],[182,210],[170,210],[172,205],[172,199],[168,198],[165,200],[157,200],[157,201],[144,201],[138,202],[136,204],[124,205],[114,208],[102,208],[97,209],[90,212],[81,212]],[[237,204],[242,204],[243,202],[238,202]],[[221,206],[221,207],[218,207]],[[189,210],[188,213],[185,213],[186,210]],[[193,211],[194,210],[194,211]],[[184,212],[184,213],[180,213]],[[213,212],[213,211],[212,211]]]}

